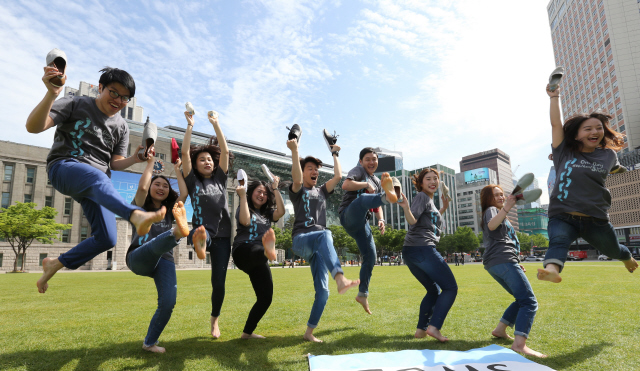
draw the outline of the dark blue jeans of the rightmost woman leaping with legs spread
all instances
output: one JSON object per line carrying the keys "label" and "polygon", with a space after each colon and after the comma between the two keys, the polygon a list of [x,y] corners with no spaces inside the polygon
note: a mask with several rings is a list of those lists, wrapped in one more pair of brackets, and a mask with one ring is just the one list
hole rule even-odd
{"label": "dark blue jeans of the rightmost woman leaping with legs spread", "polygon": [[612,259],[629,260],[629,249],[618,242],[618,236],[608,220],[558,214],[549,218],[549,249],[543,265],[553,263],[560,266],[560,272],[567,260],[569,247],[578,237],[582,237],[593,247]]}

